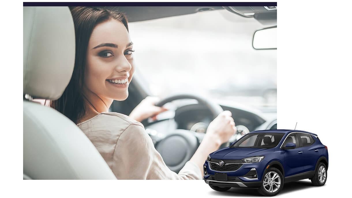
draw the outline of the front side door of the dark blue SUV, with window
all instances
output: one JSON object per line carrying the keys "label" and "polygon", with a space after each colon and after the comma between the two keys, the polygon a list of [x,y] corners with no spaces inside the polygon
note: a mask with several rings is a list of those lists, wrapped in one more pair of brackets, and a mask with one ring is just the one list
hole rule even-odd
{"label": "front side door of the dark blue SUV, with window", "polygon": [[304,171],[304,154],[300,146],[300,141],[298,140],[297,133],[291,133],[285,139],[282,147],[286,143],[296,144],[295,149],[284,149],[284,168],[285,168],[285,177],[302,173]]}

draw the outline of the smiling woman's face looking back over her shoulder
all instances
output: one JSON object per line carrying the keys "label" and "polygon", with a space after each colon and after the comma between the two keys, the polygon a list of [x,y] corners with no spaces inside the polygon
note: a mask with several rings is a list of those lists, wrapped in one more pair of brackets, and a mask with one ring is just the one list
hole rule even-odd
{"label": "smiling woman's face looking back over her shoulder", "polygon": [[132,42],[126,27],[109,19],[96,25],[90,36],[84,85],[106,100],[125,100],[134,73]]}

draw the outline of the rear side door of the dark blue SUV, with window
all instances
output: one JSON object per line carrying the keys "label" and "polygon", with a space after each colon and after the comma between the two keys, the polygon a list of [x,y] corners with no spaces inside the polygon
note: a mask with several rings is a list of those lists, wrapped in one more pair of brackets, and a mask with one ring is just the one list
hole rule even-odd
{"label": "rear side door of the dark blue SUV, with window", "polygon": [[[298,133],[304,154],[304,172],[315,169],[316,162],[320,156],[319,145],[314,141],[312,135],[308,133]],[[315,144],[314,144],[315,143]]]}

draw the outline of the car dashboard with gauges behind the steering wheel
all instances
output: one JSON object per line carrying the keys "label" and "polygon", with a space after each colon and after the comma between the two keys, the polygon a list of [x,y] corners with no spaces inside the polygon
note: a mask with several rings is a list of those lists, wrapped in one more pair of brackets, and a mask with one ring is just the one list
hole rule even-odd
{"label": "car dashboard with gauges behind the steering wheel", "polygon": [[[276,112],[261,112],[247,107],[220,104],[229,110],[237,126],[237,134],[230,138],[234,142],[246,133],[256,130],[276,129]],[[156,121],[143,123],[146,132],[154,144],[176,129],[194,131],[199,137],[204,136],[213,116],[206,106],[199,103],[186,104],[157,116]],[[202,139],[202,138],[200,138]]]}

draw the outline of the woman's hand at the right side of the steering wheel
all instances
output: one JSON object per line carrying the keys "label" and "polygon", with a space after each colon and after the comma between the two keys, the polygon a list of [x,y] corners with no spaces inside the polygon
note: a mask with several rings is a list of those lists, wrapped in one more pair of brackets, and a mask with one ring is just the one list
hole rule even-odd
{"label": "woman's hand at the right side of the steering wheel", "polygon": [[228,142],[231,136],[235,134],[237,128],[231,117],[232,113],[228,110],[221,112],[212,122],[210,122],[207,133],[204,138],[210,138],[219,146]]}

